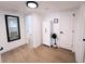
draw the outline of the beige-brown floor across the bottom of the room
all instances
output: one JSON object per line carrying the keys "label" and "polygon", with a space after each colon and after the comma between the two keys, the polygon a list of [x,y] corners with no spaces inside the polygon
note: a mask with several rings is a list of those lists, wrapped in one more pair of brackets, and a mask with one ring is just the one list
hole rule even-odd
{"label": "beige-brown floor across the bottom of the room", "polygon": [[27,44],[2,54],[4,63],[73,63],[74,53],[65,49],[54,49],[41,46],[37,49],[30,49]]}

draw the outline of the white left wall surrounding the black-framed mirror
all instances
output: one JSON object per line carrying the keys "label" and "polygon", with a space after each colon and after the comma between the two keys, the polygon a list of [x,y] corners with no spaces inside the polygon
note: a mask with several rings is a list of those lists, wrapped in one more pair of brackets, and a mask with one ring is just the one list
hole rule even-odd
{"label": "white left wall surrounding the black-framed mirror", "polygon": [[[19,16],[19,29],[20,29],[19,40],[8,42],[5,18],[4,18],[5,14]],[[9,50],[15,49],[16,47],[23,46],[25,43],[26,43],[26,35],[25,35],[24,16],[17,13],[0,12],[0,47],[3,47],[3,50],[0,52],[1,53],[6,52]]]}

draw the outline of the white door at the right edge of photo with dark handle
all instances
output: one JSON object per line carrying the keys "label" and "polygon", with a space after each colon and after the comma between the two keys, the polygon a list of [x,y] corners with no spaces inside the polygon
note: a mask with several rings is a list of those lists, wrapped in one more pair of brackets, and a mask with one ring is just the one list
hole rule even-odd
{"label": "white door at the right edge of photo with dark handle", "polygon": [[77,10],[76,33],[75,33],[75,61],[85,61],[85,8]]}

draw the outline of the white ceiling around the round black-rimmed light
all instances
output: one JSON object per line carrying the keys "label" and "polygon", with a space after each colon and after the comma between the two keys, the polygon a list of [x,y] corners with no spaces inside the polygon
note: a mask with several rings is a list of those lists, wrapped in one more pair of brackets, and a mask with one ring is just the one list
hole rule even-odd
{"label": "white ceiling around the round black-rimmed light", "polygon": [[38,9],[30,9],[26,7],[26,1],[0,1],[1,11],[12,11],[20,13],[48,13],[52,11],[63,11],[73,9],[84,3],[83,1],[37,1],[39,3]]}

